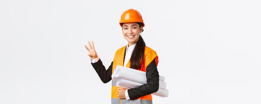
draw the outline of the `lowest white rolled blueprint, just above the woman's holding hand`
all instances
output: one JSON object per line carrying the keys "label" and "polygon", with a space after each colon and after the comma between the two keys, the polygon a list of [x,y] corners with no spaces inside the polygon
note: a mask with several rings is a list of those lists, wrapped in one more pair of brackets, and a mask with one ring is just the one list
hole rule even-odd
{"label": "lowest white rolled blueprint, just above the woman's holding hand", "polygon": [[[128,80],[121,79],[121,78],[116,83],[116,86],[122,87],[122,88],[125,88],[125,89],[137,88],[141,85],[143,85],[143,84],[133,82],[133,81],[128,81]],[[168,97],[169,91],[167,89],[160,89],[159,88],[159,90],[157,92],[152,93],[152,94],[160,96],[160,97]]]}

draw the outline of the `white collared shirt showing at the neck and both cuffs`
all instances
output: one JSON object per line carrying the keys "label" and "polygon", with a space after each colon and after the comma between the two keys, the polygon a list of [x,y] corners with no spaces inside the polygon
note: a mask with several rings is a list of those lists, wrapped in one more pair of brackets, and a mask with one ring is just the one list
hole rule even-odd
{"label": "white collared shirt showing at the neck and both cuffs", "polygon": [[[127,63],[129,62],[129,59],[132,56],[132,51],[134,50],[136,44],[137,43],[135,43],[134,45],[131,45],[131,46],[128,46],[128,44],[127,44],[125,59],[124,59],[124,63],[123,63],[124,67],[126,67]],[[99,59],[100,59],[99,57],[97,57],[95,59],[91,59],[91,62],[92,63],[98,62]],[[129,94],[128,94],[128,89],[125,90],[125,97],[126,97],[126,100],[130,100]]]}

